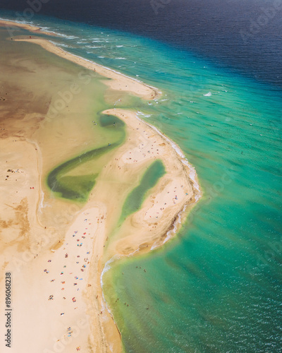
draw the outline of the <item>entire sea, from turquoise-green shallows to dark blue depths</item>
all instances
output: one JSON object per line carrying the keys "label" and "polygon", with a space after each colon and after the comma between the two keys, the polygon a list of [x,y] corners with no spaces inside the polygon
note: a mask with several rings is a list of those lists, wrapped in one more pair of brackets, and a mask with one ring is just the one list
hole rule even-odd
{"label": "entire sea, from turquoise-green shallows to dark blue depths", "polygon": [[104,274],[125,352],[282,352],[282,0],[44,1],[0,17],[158,87],[135,108],[202,188],[174,239]]}

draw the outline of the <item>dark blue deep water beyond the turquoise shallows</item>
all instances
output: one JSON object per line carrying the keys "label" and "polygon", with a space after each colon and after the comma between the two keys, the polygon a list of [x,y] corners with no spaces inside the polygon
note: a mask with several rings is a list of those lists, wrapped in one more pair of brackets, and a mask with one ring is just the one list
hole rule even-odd
{"label": "dark blue deep water beyond the turquoise shallows", "polygon": [[19,20],[33,20],[39,14],[125,30],[170,43],[257,80],[282,84],[281,0],[44,0],[41,5],[30,4],[33,0],[1,0],[0,8],[11,9]]}

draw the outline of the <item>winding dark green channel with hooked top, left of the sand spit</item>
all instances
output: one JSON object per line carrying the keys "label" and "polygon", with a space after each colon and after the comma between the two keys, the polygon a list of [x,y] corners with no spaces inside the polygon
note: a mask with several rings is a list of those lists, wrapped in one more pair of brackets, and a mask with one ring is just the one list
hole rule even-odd
{"label": "winding dark green channel with hooked top, left of the sand spit", "polygon": [[[77,157],[60,164],[54,168],[47,176],[47,185],[52,192],[59,198],[66,198],[70,201],[85,202],[93,189],[99,172],[83,175],[66,175],[81,164],[97,160],[102,155],[109,153],[114,148],[123,143],[125,138],[124,123],[116,116],[101,114],[99,125],[106,129],[116,129],[118,140],[114,143],[104,145],[99,148],[87,151]],[[119,132],[119,133],[118,133]]]}

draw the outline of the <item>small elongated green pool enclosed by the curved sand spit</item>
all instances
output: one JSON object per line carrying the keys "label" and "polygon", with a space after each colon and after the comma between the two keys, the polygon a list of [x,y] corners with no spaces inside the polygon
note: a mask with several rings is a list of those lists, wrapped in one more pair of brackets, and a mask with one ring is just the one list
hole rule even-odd
{"label": "small elongated green pool enclosed by the curved sand spit", "polygon": [[121,212],[120,222],[131,213],[135,213],[140,209],[142,202],[145,200],[149,189],[157,184],[157,181],[166,173],[163,162],[156,160],[153,162],[145,174],[143,175],[140,184],[131,191],[125,200],[123,210]]}

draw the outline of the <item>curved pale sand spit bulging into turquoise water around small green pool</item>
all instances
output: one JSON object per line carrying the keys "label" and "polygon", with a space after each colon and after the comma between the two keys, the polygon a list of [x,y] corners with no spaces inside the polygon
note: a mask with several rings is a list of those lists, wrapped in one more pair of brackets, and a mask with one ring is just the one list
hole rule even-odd
{"label": "curved pale sand spit bulging into turquoise water around small green pool", "polygon": [[[132,177],[158,159],[166,169],[166,174],[154,186],[142,208],[128,216],[119,231],[114,232],[104,256],[104,261],[109,261],[112,256],[128,256],[135,251],[147,252],[152,246],[155,249],[164,244],[168,232],[172,229],[176,232],[179,227],[175,228],[178,214],[197,201],[198,191],[197,184],[190,179],[190,165],[184,163],[188,161],[178,154],[168,138],[137,118],[135,112],[107,109],[104,114],[118,116],[125,122],[128,141],[118,150],[118,156],[111,166],[102,172],[102,184],[103,173],[111,172],[116,177],[121,175],[121,179],[125,174]],[[116,197],[121,198],[118,195]]]}

